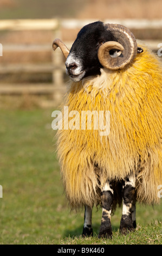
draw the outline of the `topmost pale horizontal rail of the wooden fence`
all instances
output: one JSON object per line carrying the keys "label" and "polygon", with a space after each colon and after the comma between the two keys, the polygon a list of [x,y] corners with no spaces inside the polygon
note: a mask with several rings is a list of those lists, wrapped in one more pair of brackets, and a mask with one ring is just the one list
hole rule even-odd
{"label": "topmost pale horizontal rail of the wooden fence", "polygon": [[[85,20],[76,20],[76,19],[37,19],[37,20],[0,20],[0,30],[47,30],[47,29],[57,29],[59,27],[74,29],[81,28],[88,23],[95,22],[96,20],[85,19]],[[137,28],[162,28],[162,19],[161,20],[137,20],[137,19],[111,19],[111,20],[102,20],[105,23],[118,23],[128,27],[129,29]]]}

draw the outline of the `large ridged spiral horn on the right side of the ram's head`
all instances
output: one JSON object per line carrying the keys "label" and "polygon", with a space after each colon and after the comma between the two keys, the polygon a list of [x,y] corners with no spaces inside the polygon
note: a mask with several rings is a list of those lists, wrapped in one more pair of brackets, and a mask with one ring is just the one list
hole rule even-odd
{"label": "large ridged spiral horn on the right side of the ram's head", "polygon": [[[138,52],[134,35],[125,26],[106,24],[106,30],[113,35],[113,41],[102,44],[98,51],[101,65],[107,69],[118,70],[130,64]],[[111,56],[111,50],[118,50]]]}

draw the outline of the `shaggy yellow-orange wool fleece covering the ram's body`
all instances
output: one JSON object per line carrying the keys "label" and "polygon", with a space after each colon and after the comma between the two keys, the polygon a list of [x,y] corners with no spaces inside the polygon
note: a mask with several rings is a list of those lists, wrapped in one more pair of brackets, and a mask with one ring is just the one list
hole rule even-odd
{"label": "shaggy yellow-orange wool fleece covering the ram's body", "polygon": [[78,111],[81,117],[83,110],[110,111],[108,136],[94,129],[57,132],[61,174],[72,208],[93,206],[106,179],[121,180],[132,171],[137,174],[139,202],[159,203],[162,69],[158,58],[141,47],[144,52],[124,70],[102,69],[101,76],[70,83],[64,101],[69,112]]}

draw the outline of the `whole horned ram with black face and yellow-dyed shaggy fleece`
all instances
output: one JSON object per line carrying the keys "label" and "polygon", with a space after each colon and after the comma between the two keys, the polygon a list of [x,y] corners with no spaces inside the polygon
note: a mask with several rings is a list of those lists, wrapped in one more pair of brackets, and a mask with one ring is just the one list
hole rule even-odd
{"label": "whole horned ram with black face and yellow-dyed shaggy fleece", "polygon": [[[126,234],[136,226],[135,202],[160,200],[160,62],[128,28],[100,21],[83,27],[70,51],[60,39],[53,42],[53,50],[58,46],[71,78],[64,106],[80,116],[82,111],[110,113],[107,136],[101,136],[102,127],[94,129],[95,117],[92,129],[81,129],[82,120],[75,115],[73,127],[58,130],[67,198],[74,209],[85,206],[85,236],[93,234],[92,208],[100,204],[99,237],[112,237],[111,214],[122,204],[120,231]],[[80,129],[74,129],[77,121]]]}

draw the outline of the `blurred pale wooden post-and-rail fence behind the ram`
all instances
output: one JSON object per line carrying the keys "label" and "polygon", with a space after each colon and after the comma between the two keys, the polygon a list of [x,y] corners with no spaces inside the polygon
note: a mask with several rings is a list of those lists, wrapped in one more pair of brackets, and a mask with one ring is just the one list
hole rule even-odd
{"label": "blurred pale wooden post-and-rail fence behind the ram", "polygon": [[[31,30],[51,30],[53,31],[53,38],[61,38],[61,28],[64,29],[79,29],[94,20],[0,20],[0,31],[31,31]],[[120,23],[129,29],[162,29],[162,20],[103,20],[105,23]],[[154,51],[158,51],[158,44],[162,40],[146,41]],[[70,48],[72,42],[66,41],[66,45]],[[22,44],[6,44],[2,46],[2,50],[8,52],[36,52],[36,51],[50,51],[52,54],[52,61],[49,64],[0,64],[0,74],[21,74],[22,72],[50,72],[53,76],[53,82],[50,84],[23,84],[13,86],[13,84],[0,84],[0,94],[21,94],[28,92],[31,94],[64,94],[66,87],[64,86],[64,72],[65,66],[60,50],[53,53],[51,42],[44,45],[22,45]],[[1,52],[0,52],[1,56]],[[0,57],[3,58],[3,57]]]}

